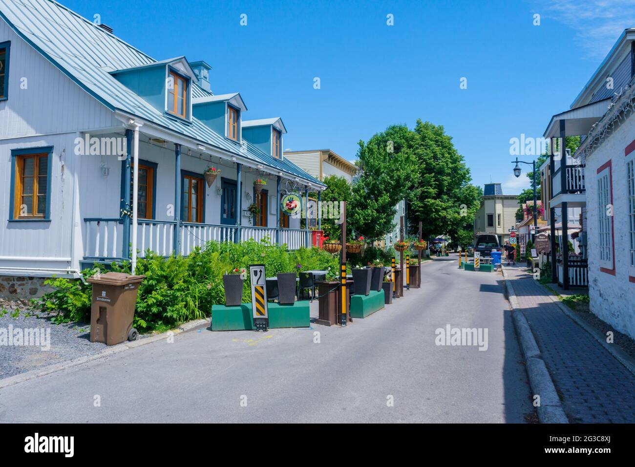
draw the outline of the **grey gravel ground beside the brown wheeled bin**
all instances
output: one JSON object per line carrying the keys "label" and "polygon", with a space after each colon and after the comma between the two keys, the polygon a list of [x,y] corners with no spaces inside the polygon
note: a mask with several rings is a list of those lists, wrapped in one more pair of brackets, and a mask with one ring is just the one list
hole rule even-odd
{"label": "grey gravel ground beside the brown wheeled bin", "polygon": [[[72,360],[81,356],[100,353],[107,348],[101,342],[90,342],[90,323],[55,324],[46,313],[23,311],[27,309],[23,301],[0,300],[0,336],[12,329],[22,334],[23,329],[50,329],[50,349],[41,346],[0,345],[0,379],[35,370],[54,363]],[[12,316],[16,310],[19,316]],[[4,311],[6,310],[6,313]],[[46,331],[45,331],[46,332]],[[139,338],[142,336],[140,335]],[[46,346],[46,342],[43,342]]]}

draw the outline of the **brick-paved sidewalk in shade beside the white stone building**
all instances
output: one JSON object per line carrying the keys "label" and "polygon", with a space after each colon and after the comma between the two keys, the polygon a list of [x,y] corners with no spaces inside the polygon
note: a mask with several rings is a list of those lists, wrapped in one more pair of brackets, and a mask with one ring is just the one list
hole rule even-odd
{"label": "brick-paved sidewalk in shade beside the white stone building", "polygon": [[521,267],[506,267],[571,423],[635,423],[635,375]]}

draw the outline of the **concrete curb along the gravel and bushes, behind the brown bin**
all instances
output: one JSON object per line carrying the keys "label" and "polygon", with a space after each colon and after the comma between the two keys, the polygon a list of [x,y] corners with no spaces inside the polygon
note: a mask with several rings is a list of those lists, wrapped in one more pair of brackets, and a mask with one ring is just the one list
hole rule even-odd
{"label": "concrete curb along the gravel and bushes, behind the brown bin", "polygon": [[208,325],[209,322],[210,322],[209,319],[188,321],[187,323],[183,323],[182,325],[180,325],[178,328],[175,328],[166,332],[162,332],[161,334],[153,335],[152,337],[145,337],[144,339],[139,339],[138,341],[123,342],[121,344],[117,344],[116,346],[112,346],[107,349],[104,349],[100,353],[96,353],[94,355],[87,355],[87,356],[81,356],[78,358],[73,358],[72,360],[67,360],[66,362],[55,363],[53,365],[48,365],[46,367],[38,368],[36,370],[27,371],[24,373],[17,374],[15,376],[10,376],[8,378],[0,379],[0,389],[6,388],[7,386],[13,386],[13,384],[18,384],[19,382],[29,381],[30,379],[35,379],[41,376],[46,376],[51,373],[55,373],[58,371],[76,367],[77,365],[81,365],[82,363],[88,363],[88,362],[93,362],[95,360],[100,360],[100,358],[106,358],[108,356],[124,352],[126,350],[145,346],[145,344],[151,344],[152,342],[161,341],[163,339],[167,339],[170,333],[181,334],[182,332],[196,330],[198,328],[205,327],[206,325]]}

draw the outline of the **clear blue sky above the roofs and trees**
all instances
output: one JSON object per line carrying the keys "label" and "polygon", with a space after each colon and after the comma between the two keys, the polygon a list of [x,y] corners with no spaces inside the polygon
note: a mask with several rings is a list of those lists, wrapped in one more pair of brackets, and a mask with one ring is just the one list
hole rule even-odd
{"label": "clear blue sky above the roofs and trees", "polygon": [[420,118],[445,126],[474,184],[506,194],[528,187],[509,139],[540,137],[635,26],[635,0],[62,3],[157,60],[205,60],[215,93],[243,96],[244,119],[283,118],[285,149],[354,159],[360,139]]}

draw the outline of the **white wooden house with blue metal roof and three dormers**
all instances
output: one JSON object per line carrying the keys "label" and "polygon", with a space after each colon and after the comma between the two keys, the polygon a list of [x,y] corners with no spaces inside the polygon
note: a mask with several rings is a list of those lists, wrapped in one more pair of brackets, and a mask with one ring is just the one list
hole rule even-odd
{"label": "white wooden house with blue metal roof and three dormers", "polygon": [[0,276],[77,276],[208,240],[309,245],[279,201],[324,185],[284,158],[281,119],[249,121],[239,93],[212,93],[208,64],[154,60],[49,0],[0,0],[0,17]]}

